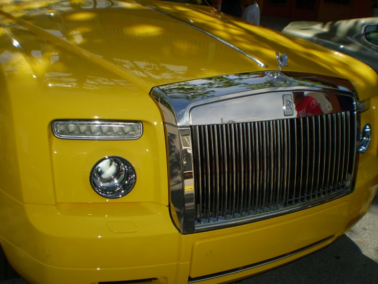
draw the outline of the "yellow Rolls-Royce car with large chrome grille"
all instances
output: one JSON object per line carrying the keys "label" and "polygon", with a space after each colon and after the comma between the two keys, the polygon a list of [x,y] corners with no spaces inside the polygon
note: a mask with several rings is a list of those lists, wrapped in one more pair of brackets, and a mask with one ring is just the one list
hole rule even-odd
{"label": "yellow Rolls-Royce car with large chrome grille", "polygon": [[1,2],[0,241],[30,283],[231,282],[368,211],[377,74],[187,2]]}

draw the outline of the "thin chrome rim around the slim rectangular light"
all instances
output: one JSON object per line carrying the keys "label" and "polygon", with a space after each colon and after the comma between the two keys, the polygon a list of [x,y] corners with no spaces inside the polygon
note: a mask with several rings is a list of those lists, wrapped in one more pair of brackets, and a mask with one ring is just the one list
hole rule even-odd
{"label": "thin chrome rim around the slim rectangular light", "polygon": [[[90,134],[83,134],[83,135],[63,135],[59,133],[58,125],[66,125],[68,126],[119,126],[125,127],[127,125],[137,125],[140,127],[140,134],[135,137],[127,137],[127,136],[120,136],[120,135],[112,135],[112,136],[95,136]],[[76,140],[136,140],[139,139],[143,134],[143,124],[140,121],[129,121],[129,120],[80,120],[80,119],[56,119],[53,120],[51,123],[51,127],[54,133],[54,136],[60,139],[76,139]],[[126,135],[126,133],[125,133]]]}

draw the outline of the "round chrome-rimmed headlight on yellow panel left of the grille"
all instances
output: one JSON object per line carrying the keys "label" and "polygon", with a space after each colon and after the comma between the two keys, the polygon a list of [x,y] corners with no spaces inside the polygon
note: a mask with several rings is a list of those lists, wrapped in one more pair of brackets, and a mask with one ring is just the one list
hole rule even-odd
{"label": "round chrome-rimmed headlight on yellow panel left of the grille", "polygon": [[93,189],[101,196],[119,198],[134,188],[137,175],[128,160],[110,156],[95,164],[90,179]]}

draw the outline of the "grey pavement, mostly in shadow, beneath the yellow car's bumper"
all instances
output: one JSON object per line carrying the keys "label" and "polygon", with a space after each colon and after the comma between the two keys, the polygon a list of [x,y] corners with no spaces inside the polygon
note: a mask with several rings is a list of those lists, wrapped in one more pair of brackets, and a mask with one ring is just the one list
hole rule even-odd
{"label": "grey pavement, mostly in shadow, beneath the yellow car's bumper", "polygon": [[[252,283],[378,283],[378,195],[357,225],[333,244],[285,266],[234,284]],[[0,281],[0,284],[28,282],[19,278]]]}

